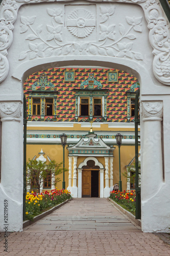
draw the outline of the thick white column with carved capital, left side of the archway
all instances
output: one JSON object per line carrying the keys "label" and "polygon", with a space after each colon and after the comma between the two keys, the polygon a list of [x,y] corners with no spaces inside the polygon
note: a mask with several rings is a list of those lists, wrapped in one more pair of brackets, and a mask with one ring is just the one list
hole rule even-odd
{"label": "thick white column with carved capital, left side of the archway", "polygon": [[[0,103],[2,121],[2,169],[0,205],[8,201],[8,231],[22,231],[23,207],[23,122],[20,101]],[[0,230],[4,228],[0,211]]]}

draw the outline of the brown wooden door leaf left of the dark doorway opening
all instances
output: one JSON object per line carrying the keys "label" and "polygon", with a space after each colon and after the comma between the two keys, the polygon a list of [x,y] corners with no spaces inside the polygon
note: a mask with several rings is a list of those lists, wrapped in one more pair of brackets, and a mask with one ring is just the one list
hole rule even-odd
{"label": "brown wooden door leaf left of the dark doorway opening", "polygon": [[91,170],[83,170],[82,197],[91,197]]}

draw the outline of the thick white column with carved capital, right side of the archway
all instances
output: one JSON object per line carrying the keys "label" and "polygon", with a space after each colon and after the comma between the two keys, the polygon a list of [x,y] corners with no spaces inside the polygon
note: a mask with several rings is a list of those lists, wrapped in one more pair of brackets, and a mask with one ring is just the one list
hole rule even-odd
{"label": "thick white column with carved capital, right side of the archway", "polygon": [[164,185],[161,134],[162,110],[162,101],[142,102],[141,223],[142,231],[146,232],[161,230],[166,222],[162,214],[162,209],[166,206],[161,205],[163,204],[161,188]]}

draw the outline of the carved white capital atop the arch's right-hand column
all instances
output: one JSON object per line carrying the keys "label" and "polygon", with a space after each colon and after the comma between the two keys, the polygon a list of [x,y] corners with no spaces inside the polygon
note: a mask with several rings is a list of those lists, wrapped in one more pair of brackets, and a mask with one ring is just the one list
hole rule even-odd
{"label": "carved white capital atop the arch's right-hand column", "polygon": [[143,101],[142,116],[143,118],[162,118],[163,103],[162,101]]}

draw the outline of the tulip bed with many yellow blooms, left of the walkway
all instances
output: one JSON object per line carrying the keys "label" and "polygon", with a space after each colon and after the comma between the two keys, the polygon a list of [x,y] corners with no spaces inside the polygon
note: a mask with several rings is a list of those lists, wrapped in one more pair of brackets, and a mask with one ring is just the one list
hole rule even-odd
{"label": "tulip bed with many yellow blooms, left of the walkway", "polygon": [[26,195],[26,220],[33,220],[33,218],[41,214],[44,209],[54,207],[67,199],[70,199],[70,191],[66,189],[53,189],[51,193],[45,191],[44,193],[27,193]]}

